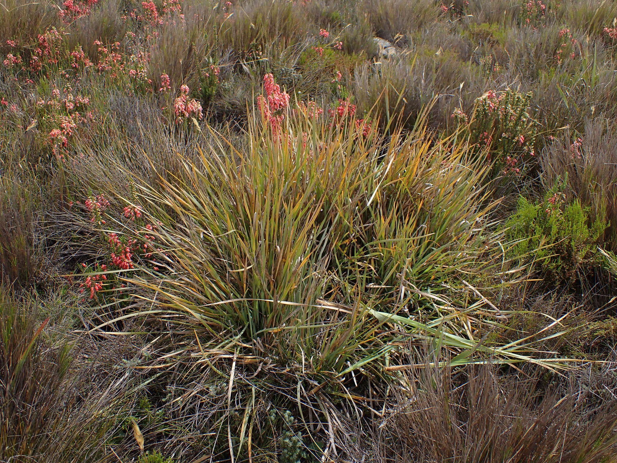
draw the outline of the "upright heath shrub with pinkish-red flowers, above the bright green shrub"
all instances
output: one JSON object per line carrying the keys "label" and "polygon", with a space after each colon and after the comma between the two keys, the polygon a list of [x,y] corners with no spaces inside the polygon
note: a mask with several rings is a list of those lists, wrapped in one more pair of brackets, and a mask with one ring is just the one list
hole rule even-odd
{"label": "upright heath shrub with pinkish-red flowers, above the bright green shrub", "polygon": [[487,149],[504,173],[520,173],[521,161],[535,156],[536,122],[529,115],[531,96],[514,90],[497,95],[491,90],[476,99],[473,117],[457,108],[452,119],[469,130],[471,141]]}

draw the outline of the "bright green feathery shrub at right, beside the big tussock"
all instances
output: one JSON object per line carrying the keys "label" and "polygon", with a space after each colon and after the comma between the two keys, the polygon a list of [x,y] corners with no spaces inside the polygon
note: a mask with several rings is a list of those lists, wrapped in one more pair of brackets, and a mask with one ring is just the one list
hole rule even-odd
{"label": "bright green feathery shrub at right, beside the big tussock", "polygon": [[521,198],[507,222],[507,236],[519,240],[518,256],[534,255],[549,280],[572,280],[598,263],[596,241],[608,224],[591,222],[590,211],[578,199],[568,202],[562,186],[548,191],[542,201]]}

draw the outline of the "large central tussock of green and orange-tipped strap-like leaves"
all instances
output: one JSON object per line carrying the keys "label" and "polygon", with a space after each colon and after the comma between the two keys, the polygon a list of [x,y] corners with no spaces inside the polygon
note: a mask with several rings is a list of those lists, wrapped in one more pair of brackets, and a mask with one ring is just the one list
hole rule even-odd
{"label": "large central tussock of green and orange-tipped strap-like leaves", "polygon": [[[184,161],[181,178],[143,188],[141,209],[159,224],[163,247],[152,262],[162,273],[147,269],[131,283],[197,326],[262,339],[296,362],[314,351],[317,369],[347,369],[385,314],[404,315],[403,325],[424,335],[468,338],[450,304],[505,269],[495,264],[499,231],[487,222],[495,203],[483,186],[486,165],[469,169],[465,144],[434,144],[422,125],[384,144],[342,124],[299,115],[284,139],[255,125],[246,151],[210,146],[199,165]],[[337,315],[339,306],[351,316]],[[477,330],[495,322],[467,313]],[[369,352],[386,351],[378,343]]]}

